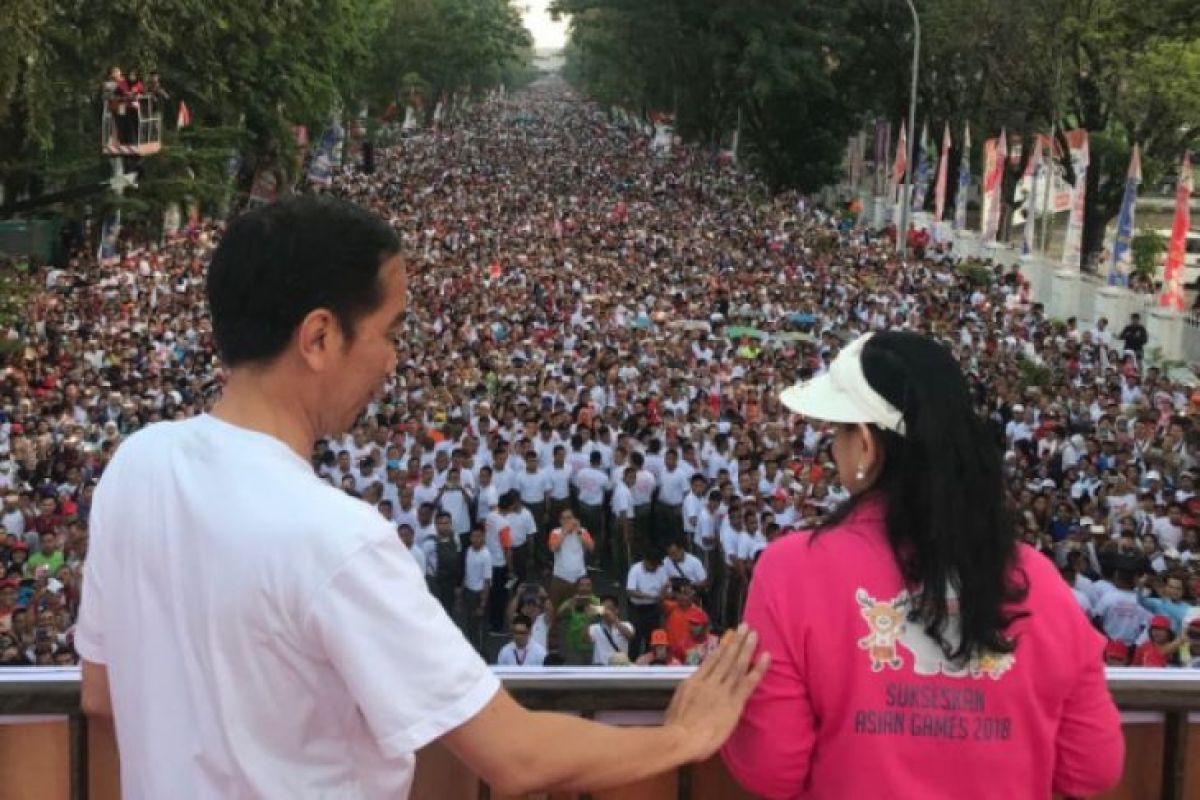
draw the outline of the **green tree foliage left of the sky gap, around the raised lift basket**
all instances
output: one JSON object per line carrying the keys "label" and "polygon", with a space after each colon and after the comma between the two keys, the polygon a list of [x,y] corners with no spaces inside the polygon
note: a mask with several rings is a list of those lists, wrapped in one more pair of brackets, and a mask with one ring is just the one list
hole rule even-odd
{"label": "green tree foliage left of the sky gap, around the raised lift basket", "polygon": [[[215,201],[240,155],[288,178],[293,126],[319,136],[344,109],[380,112],[413,73],[431,91],[520,74],[528,34],[508,0],[5,0],[0,12],[0,182],[10,197],[102,180],[100,88],[108,67],[162,72],[161,155],[130,205]],[[193,127],[174,131],[178,102]],[[136,198],[136,199],[134,199]]]}

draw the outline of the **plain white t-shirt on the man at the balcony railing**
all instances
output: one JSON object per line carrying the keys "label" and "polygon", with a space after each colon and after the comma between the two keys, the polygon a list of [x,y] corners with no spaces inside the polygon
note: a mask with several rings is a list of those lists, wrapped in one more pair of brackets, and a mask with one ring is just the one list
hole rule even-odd
{"label": "plain white t-shirt on the man at the balcony railing", "polygon": [[499,688],[392,527],[272,437],[145,428],[90,534],[76,646],[108,668],[125,798],[404,798]]}

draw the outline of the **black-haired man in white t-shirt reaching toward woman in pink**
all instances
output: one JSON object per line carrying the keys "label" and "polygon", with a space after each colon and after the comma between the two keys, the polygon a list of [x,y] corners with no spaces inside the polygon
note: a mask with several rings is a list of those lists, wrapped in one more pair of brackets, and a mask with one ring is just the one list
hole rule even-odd
{"label": "black-haired man in white t-shirt reaching toward woman in pink", "polygon": [[709,758],[766,672],[744,633],[644,729],[504,692],[395,529],[310,462],[396,372],[398,251],[337,200],[234,219],[206,282],[222,397],[104,470],[74,645],[84,711],[116,718],[126,796],[403,799],[434,740],[505,795],[596,792]]}

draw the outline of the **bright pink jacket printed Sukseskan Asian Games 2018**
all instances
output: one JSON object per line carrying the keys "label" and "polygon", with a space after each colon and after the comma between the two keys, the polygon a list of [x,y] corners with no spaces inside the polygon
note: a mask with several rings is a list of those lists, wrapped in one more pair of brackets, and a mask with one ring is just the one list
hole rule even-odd
{"label": "bright pink jacket printed Sukseskan Asian Games 2018", "polygon": [[1103,637],[1049,559],[1028,576],[1010,655],[956,667],[905,619],[883,507],[816,539],[793,534],[755,570],[745,621],[772,664],[722,756],[775,798],[1049,798],[1116,784],[1121,721]]}

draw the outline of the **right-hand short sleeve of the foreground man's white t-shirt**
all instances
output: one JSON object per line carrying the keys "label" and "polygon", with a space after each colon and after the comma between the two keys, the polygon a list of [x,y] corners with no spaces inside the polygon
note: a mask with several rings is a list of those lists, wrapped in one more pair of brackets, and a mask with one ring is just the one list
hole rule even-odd
{"label": "right-hand short sleeve of the foreground man's white t-shirt", "polygon": [[500,688],[402,548],[398,540],[360,548],[317,589],[305,620],[389,757],[457,728]]}

